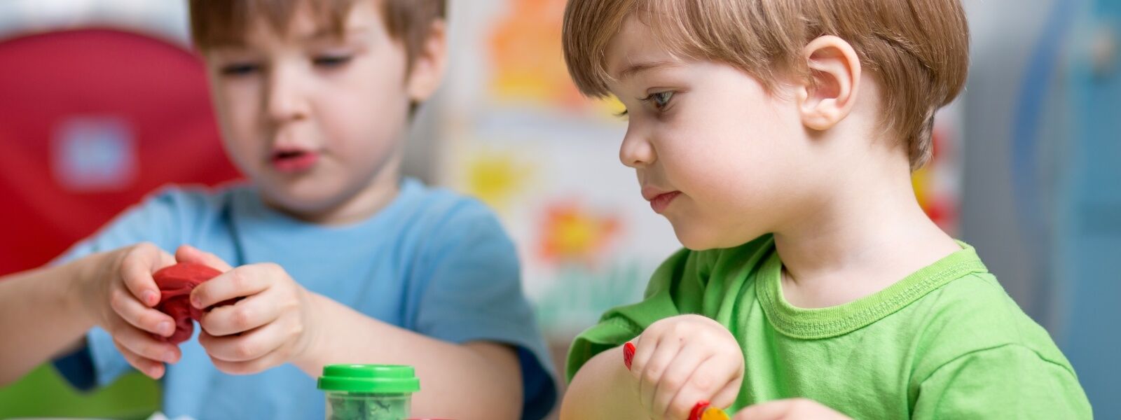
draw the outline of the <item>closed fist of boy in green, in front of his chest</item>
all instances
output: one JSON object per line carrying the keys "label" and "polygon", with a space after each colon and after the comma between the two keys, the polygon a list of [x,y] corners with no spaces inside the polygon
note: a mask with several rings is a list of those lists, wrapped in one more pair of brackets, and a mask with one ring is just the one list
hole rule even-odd
{"label": "closed fist of boy in green, in front of his chest", "polygon": [[701,401],[735,402],[743,382],[743,352],[715,320],[682,315],[651,324],[634,343],[631,373],[651,419],[684,420]]}

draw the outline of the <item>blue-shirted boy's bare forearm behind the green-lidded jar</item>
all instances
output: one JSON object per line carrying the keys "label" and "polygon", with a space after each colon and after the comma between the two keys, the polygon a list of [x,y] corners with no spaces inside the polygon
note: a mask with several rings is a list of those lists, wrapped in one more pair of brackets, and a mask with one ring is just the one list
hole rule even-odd
{"label": "blue-shirted boy's bare forearm behind the green-lidded jar", "polygon": [[413,417],[518,419],[522,386],[517,353],[483,342],[442,342],[370,318],[312,295],[322,325],[293,364],[313,377],[333,363],[405,364],[416,368],[421,391]]}

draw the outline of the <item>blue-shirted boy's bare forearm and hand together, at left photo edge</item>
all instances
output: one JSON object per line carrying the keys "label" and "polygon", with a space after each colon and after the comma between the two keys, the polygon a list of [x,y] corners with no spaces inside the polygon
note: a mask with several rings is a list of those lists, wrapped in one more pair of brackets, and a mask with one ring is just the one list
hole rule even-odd
{"label": "blue-shirted boy's bare forearm and hand together, at left photo edge", "polygon": [[159,301],[151,272],[170,263],[167,253],[141,244],[0,280],[0,385],[77,348],[94,326],[113,335],[129,363],[161,376],[178,348],[148,334],[174,332],[172,318],[151,308]]}

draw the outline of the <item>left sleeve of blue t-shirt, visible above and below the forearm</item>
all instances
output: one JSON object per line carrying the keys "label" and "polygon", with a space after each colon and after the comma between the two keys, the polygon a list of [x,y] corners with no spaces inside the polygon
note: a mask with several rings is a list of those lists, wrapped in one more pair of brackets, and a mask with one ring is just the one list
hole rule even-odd
{"label": "left sleeve of blue t-shirt, visible above and below the forearm", "polygon": [[[94,235],[78,242],[52,263],[59,264],[93,253],[115,250],[140,242],[151,242],[165,251],[180,243],[179,224],[185,200],[182,190],[168,188],[130,207]],[[170,252],[169,251],[169,252]],[[74,388],[83,391],[108,385],[131,366],[117,351],[105,330],[94,327],[86,333],[86,346],[62,356],[53,364]]]}

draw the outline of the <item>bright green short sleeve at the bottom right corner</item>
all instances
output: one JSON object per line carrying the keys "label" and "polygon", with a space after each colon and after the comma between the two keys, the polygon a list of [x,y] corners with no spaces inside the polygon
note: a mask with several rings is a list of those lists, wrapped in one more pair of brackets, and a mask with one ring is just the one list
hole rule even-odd
{"label": "bright green short sleeve at the bottom right corner", "polygon": [[919,385],[914,419],[1091,419],[1074,372],[1022,345],[976,351]]}

